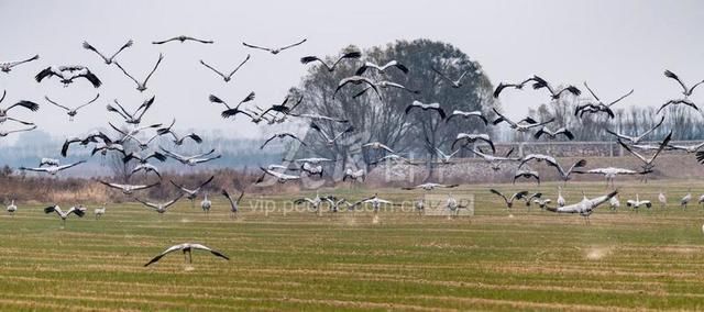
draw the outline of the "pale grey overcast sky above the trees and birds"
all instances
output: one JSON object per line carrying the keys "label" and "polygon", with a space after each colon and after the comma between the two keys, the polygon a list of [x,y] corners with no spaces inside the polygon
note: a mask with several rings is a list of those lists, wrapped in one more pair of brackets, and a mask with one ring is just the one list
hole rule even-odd
{"label": "pale grey overcast sky above the trees and birds", "polygon": [[[249,91],[258,104],[279,102],[289,87],[298,85],[305,55],[329,55],[354,44],[383,45],[395,40],[430,38],[449,42],[477,60],[497,85],[542,75],[554,83],[582,86],[588,81],[603,99],[630,89],[635,94],[622,105],[657,105],[679,97],[680,90],[662,71],[668,68],[688,81],[704,79],[704,1],[8,1],[0,0],[0,62],[40,54],[38,62],[0,73],[0,88],[8,98],[43,104],[40,113],[21,112],[24,119],[65,137],[106,125],[105,105],[112,99],[135,108],[156,96],[147,122],[169,122],[177,127],[221,130],[229,135],[256,136],[257,126],[219,116],[209,93],[238,101]],[[213,45],[155,40],[191,35],[216,41]],[[242,46],[245,41],[280,46],[301,38],[308,42],[273,56]],[[162,67],[140,93],[117,67],[107,67],[81,48],[88,41],[112,54],[127,40],[120,63],[138,79],[145,77],[164,53]],[[199,59],[231,70],[246,54],[252,59],[233,81],[198,64]],[[85,81],[63,88],[55,79],[36,83],[33,76],[50,65],[81,64],[105,82],[94,89]],[[695,94],[704,99],[704,90]],[[77,105],[100,92],[101,99],[68,122],[44,96]],[[535,92],[502,97],[509,115],[525,114],[544,98]],[[20,111],[20,110],[18,110]],[[14,112],[18,113],[18,112]],[[3,129],[10,125],[2,125]],[[14,125],[12,125],[14,126]],[[6,143],[8,142],[7,137]]]}

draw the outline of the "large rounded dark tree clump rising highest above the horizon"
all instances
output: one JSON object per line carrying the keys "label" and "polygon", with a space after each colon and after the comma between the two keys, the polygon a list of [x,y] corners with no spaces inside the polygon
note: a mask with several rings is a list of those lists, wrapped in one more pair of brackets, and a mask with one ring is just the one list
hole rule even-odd
{"label": "large rounded dark tree clump rising highest above the horizon", "polygon": [[[343,52],[352,48],[354,47],[348,47]],[[297,92],[306,96],[304,104],[297,110],[344,118],[361,131],[352,136],[352,142],[343,140],[332,146],[326,145],[317,135],[309,134],[306,142],[312,142],[312,154],[342,156],[342,159],[348,159],[360,152],[359,143],[381,142],[400,154],[419,153],[427,158],[435,158],[436,148],[449,147],[458,132],[490,132],[481,121],[458,119],[457,122],[447,123],[438,116],[428,118],[428,112],[405,113],[406,107],[414,100],[439,102],[448,113],[455,109],[491,112],[494,104],[491,97],[492,83],[476,62],[470,60],[469,56],[452,45],[428,40],[399,41],[365,51],[363,60],[376,64],[397,60],[404,64],[409,68],[407,75],[393,68],[385,73],[367,70],[364,75],[374,81],[400,83],[410,90],[420,91],[420,94],[385,88],[381,90],[382,99],[372,91],[355,97],[361,88],[349,86],[332,99],[339,81],[353,76],[361,62],[345,62],[333,73],[319,65],[311,66],[297,89]],[[452,88],[432,68],[449,77],[460,77],[464,71],[468,74],[461,88]],[[323,122],[320,126],[327,132],[338,132],[341,127],[333,122]],[[378,159],[382,154],[364,151],[362,157],[369,164]]]}

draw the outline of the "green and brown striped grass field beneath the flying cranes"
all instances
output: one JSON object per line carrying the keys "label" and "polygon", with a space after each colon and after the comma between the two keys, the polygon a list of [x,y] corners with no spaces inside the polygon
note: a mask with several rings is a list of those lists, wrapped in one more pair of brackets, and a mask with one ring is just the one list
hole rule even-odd
{"label": "green and brown striped grass field beneath the flying cranes", "polygon": [[[670,207],[632,212],[625,201]],[[585,225],[522,203],[509,213],[486,187],[453,193],[476,199],[475,215],[414,212],[263,213],[246,204],[239,220],[217,199],[209,216],[187,201],[164,215],[141,205],[108,207],[101,220],[69,219],[65,229],[41,207],[0,218],[0,310],[703,310],[704,210],[678,205],[701,182],[629,183],[622,210],[600,208]],[[517,190],[534,185],[498,186]],[[539,188],[554,199],[556,185]],[[604,192],[574,183],[569,201]],[[373,191],[340,190],[353,200]],[[443,193],[442,190],[437,191]],[[328,193],[327,191],[321,193]],[[421,191],[381,190],[413,199]],[[290,200],[294,196],[267,198]],[[164,248],[199,242],[231,257],[194,253],[143,265]]]}

